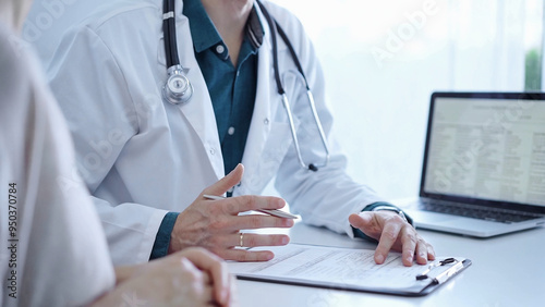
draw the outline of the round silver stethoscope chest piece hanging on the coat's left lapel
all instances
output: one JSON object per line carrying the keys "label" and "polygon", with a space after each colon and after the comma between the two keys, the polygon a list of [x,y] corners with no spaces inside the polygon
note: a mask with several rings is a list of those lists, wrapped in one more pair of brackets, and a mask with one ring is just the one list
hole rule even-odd
{"label": "round silver stethoscope chest piece hanging on the coat's left lapel", "polygon": [[193,96],[193,86],[185,76],[181,65],[168,70],[168,79],[162,87],[162,96],[172,105],[184,105]]}

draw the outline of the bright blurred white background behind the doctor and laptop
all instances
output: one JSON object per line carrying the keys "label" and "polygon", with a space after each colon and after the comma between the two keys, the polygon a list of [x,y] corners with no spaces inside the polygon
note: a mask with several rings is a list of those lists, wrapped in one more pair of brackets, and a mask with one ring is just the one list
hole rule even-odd
{"label": "bright blurred white background behind the doctor and laptop", "polygon": [[[51,33],[106,1],[37,0],[23,37],[51,46],[47,63]],[[545,86],[543,0],[272,1],[315,44],[349,173],[390,199],[417,194],[434,90]]]}

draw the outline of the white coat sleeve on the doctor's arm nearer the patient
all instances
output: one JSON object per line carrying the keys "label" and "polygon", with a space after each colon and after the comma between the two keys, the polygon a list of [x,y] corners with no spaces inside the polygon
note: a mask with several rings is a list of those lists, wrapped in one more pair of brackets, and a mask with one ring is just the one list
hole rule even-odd
{"label": "white coat sleeve on the doctor's arm nearer the patient", "polygon": [[131,202],[130,197],[116,204],[97,197],[107,175],[117,172],[123,147],[138,134],[135,103],[117,59],[94,29],[80,26],[61,41],[48,78],[68,120],[77,171],[94,195],[114,265],[147,261],[167,211]]}

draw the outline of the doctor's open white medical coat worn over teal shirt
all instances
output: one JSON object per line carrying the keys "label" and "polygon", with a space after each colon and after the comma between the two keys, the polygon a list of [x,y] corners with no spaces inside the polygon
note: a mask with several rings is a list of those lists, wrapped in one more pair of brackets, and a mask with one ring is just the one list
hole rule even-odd
{"label": "doctor's open white medical coat worn over teal shirt", "polygon": [[[324,76],[300,22],[265,2],[287,30],[316,100],[331,150],[326,168],[304,170],[274,79],[270,29],[258,51],[257,94],[234,195],[259,194],[276,176],[276,188],[303,221],[353,235],[352,212],[379,200],[344,172],[346,157],[331,134]],[[48,66],[51,87],[74,135],[78,168],[95,196],[114,263],[147,260],[164,216],[182,211],[221,179],[223,162],[210,97],[194,57],[189,20],[177,1],[180,62],[195,93],[173,106],[161,99],[167,78],[162,1],[116,1],[93,13],[62,39]],[[39,46],[38,46],[39,47]],[[280,72],[295,70],[279,39]],[[320,163],[324,150],[303,91],[287,82],[305,161]]]}

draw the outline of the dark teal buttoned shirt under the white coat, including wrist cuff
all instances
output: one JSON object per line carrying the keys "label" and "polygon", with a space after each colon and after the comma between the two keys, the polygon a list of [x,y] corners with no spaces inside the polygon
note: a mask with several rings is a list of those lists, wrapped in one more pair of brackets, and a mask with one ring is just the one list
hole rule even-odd
{"label": "dark teal buttoned shirt under the white coat, including wrist cuff", "polygon": [[[242,161],[246,145],[257,88],[257,51],[263,42],[263,27],[254,8],[246,22],[244,40],[234,66],[227,45],[201,0],[185,0],[183,4],[183,14],[190,20],[195,58],[203,72],[216,115],[227,174]],[[169,212],[164,218],[150,259],[167,255],[177,217],[177,212]]]}

